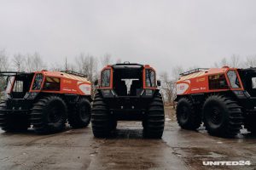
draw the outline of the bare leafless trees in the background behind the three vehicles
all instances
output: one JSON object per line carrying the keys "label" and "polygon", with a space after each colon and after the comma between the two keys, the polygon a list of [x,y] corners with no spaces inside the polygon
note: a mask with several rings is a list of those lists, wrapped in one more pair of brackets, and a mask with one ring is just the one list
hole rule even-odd
{"label": "bare leafless trees in the background behind the three vehicles", "polygon": [[[111,54],[96,57],[91,54],[81,53],[75,57],[73,62],[69,62],[67,58],[63,58],[61,63],[48,65],[37,52],[33,54],[15,54],[13,57],[9,57],[4,49],[0,50],[0,71],[77,71],[87,75],[90,82],[95,82],[99,78],[102,67],[113,63],[121,63],[121,59],[113,60]],[[212,67],[219,68],[224,65],[239,68],[256,67],[256,55],[241,58],[241,56],[233,54],[229,58],[223,58],[215,62]],[[166,105],[172,105],[173,100],[176,98],[175,82],[179,78],[179,75],[184,71],[198,67],[195,65],[189,69],[184,69],[182,65],[177,65],[169,72],[164,71],[158,74],[157,78],[161,81],[160,91],[163,94]]]}

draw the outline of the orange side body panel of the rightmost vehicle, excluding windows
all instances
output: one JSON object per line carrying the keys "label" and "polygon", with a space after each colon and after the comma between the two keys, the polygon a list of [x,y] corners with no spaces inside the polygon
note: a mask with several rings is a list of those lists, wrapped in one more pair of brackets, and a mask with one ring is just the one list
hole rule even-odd
{"label": "orange side body panel of the rightmost vehicle, excluding windows", "polygon": [[[236,71],[236,75],[238,76],[239,82],[241,84],[241,88],[230,88],[230,81],[227,77],[228,71]],[[229,88],[225,89],[209,89],[209,76],[212,75],[220,75],[224,74],[225,79],[227,80]],[[177,81],[177,95],[186,95],[186,94],[204,94],[204,93],[212,93],[212,92],[222,92],[228,90],[243,90],[241,79],[238,75],[236,68],[212,68],[206,71],[198,71],[195,73],[191,73],[186,76],[182,76]]]}

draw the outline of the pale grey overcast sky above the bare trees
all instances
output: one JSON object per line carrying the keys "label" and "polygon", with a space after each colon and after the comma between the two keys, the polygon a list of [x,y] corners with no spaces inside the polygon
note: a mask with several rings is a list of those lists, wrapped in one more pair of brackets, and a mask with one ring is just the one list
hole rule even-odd
{"label": "pale grey overcast sky above the bare trees", "polygon": [[0,0],[0,48],[37,51],[48,64],[79,55],[208,67],[256,54],[256,1]]}

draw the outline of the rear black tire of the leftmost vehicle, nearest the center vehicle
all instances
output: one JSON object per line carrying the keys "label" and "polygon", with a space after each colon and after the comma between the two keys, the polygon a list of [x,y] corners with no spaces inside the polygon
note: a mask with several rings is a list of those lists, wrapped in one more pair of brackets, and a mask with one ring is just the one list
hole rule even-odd
{"label": "rear black tire of the leftmost vehicle, nearest the center vehicle", "polygon": [[90,123],[91,106],[90,101],[85,98],[79,99],[68,114],[68,123],[73,128],[87,127]]}

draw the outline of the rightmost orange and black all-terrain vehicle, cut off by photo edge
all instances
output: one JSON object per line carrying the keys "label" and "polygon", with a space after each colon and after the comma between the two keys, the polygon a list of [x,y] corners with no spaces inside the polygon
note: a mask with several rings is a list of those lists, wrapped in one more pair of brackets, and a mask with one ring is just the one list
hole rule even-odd
{"label": "rightmost orange and black all-terrain vehicle, cut off by photo edge", "polygon": [[256,68],[195,69],[177,81],[177,122],[195,130],[233,137],[244,125],[256,133]]}

